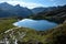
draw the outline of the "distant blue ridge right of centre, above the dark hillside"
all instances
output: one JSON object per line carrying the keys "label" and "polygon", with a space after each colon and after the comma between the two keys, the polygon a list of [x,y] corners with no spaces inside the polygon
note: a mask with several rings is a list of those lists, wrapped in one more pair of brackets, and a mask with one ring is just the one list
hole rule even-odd
{"label": "distant blue ridge right of centre, above the dark hillside", "polygon": [[43,12],[43,11],[46,12],[46,11],[52,11],[52,10],[55,10],[55,9],[57,9],[57,7],[48,7],[48,8],[38,7],[38,8],[32,9],[32,12],[34,14],[37,14],[37,13]]}

